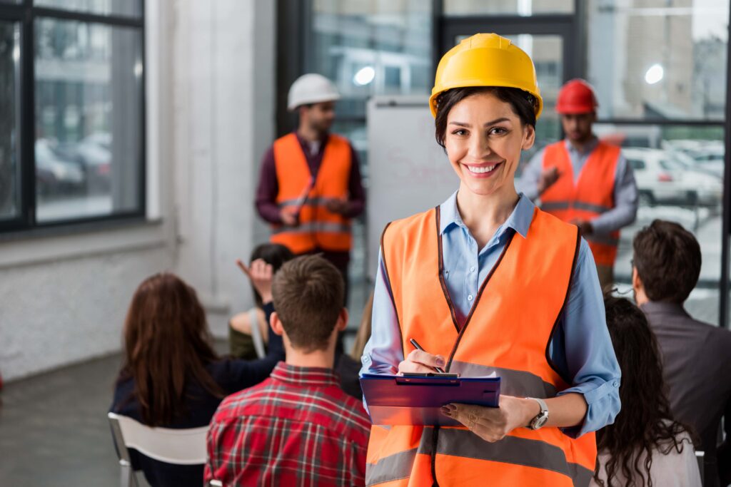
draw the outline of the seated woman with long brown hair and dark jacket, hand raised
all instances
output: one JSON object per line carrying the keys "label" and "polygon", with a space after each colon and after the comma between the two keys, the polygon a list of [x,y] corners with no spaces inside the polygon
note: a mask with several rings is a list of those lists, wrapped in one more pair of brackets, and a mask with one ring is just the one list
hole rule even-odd
{"label": "seated woman with long brown hair and dark jacket, hand raised", "polygon": [[[254,261],[243,269],[271,315],[272,267]],[[173,274],[148,277],[137,288],[124,324],[125,361],[111,410],[148,426],[208,426],[224,396],[269,377],[284,360],[281,337],[271,334],[269,352],[254,361],[221,360],[211,347],[205,312],[195,291]],[[203,485],[203,465],[178,466],[130,450],[132,467],[151,486]]]}

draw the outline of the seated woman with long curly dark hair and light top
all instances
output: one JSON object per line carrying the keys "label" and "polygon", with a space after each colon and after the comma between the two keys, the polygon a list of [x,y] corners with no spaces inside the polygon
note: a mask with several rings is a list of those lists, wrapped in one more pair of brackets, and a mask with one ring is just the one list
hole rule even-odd
{"label": "seated woman with long curly dark hair and light top", "polygon": [[596,432],[592,486],[700,487],[688,428],[673,419],[647,318],[626,299],[605,296],[607,328],[622,371],[622,410]]}

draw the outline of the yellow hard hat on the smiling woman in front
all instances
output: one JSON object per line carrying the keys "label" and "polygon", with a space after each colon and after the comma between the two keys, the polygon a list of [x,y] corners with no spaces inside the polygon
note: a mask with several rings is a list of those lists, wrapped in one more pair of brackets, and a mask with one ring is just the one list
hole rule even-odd
{"label": "yellow hard hat on the smiling woman in front", "polygon": [[440,93],[467,86],[520,88],[536,97],[536,118],[543,110],[533,61],[510,39],[498,34],[474,34],[442,56],[429,98],[431,115],[436,117],[436,99]]}

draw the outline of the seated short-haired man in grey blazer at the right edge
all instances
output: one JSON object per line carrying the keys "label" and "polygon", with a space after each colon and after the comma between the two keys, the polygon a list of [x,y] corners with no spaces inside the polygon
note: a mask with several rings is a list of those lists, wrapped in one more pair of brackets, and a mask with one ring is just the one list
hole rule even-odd
{"label": "seated short-haired man in grey blazer at the right edge", "polygon": [[[697,321],[683,302],[698,282],[700,245],[678,223],[655,220],[635,235],[632,288],[655,332],[678,421],[695,429],[705,452],[705,486],[731,483],[731,331]],[[725,415],[726,440],[719,448]]]}

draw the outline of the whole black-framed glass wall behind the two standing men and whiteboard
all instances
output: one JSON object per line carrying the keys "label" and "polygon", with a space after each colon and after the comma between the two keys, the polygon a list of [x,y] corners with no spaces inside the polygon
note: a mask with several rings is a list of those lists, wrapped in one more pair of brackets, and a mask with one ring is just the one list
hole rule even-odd
{"label": "whole black-framed glass wall behind the two standing men and whiteboard", "polygon": [[[558,89],[572,77],[586,78],[599,99],[596,134],[623,147],[639,190],[637,221],[622,231],[615,269],[618,284],[623,291],[629,288],[637,229],[654,218],[678,221],[694,232],[703,253],[700,283],[689,310],[719,323],[719,269],[727,265],[721,261],[726,245],[721,196],[728,137],[728,0],[310,4],[302,39],[303,72],[325,74],[344,93],[335,130],[352,139],[363,156],[366,177],[366,99],[376,94],[428,94],[433,50],[451,47],[447,44],[462,35],[494,31],[531,54],[545,100],[534,150],[562,137],[555,113]],[[439,33],[431,30],[432,6],[442,12],[436,24],[442,28]]]}

